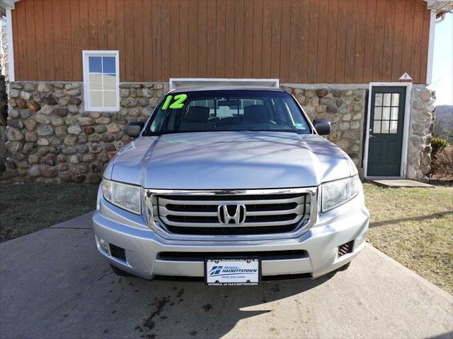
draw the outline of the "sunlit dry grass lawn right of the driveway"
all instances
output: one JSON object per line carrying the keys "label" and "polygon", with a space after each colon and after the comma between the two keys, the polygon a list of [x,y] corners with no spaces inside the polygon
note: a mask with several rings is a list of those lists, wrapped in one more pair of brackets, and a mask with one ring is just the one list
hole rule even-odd
{"label": "sunlit dry grass lawn right of the driveway", "polygon": [[371,213],[367,241],[453,293],[453,187],[364,188]]}

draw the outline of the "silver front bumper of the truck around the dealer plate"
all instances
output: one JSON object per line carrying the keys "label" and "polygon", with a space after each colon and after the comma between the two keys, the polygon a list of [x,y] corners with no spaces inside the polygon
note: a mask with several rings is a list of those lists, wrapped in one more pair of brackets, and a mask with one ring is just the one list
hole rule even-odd
{"label": "silver front bumper of the truck around the dealer plate", "polygon": [[[167,260],[162,252],[218,252],[221,256],[248,251],[304,250],[299,258],[267,258],[262,261],[263,275],[309,273],[314,278],[336,270],[354,258],[365,244],[369,213],[360,194],[343,206],[321,213],[316,223],[300,237],[292,239],[266,239],[259,241],[193,241],[166,239],[147,227],[139,215],[117,208],[98,198],[98,208],[93,215],[93,229],[98,250],[113,265],[151,279],[154,275],[202,277],[202,259]],[[358,239],[360,240],[358,240]],[[122,261],[105,251],[100,239],[125,249]],[[338,258],[338,246],[354,241],[352,252]]]}

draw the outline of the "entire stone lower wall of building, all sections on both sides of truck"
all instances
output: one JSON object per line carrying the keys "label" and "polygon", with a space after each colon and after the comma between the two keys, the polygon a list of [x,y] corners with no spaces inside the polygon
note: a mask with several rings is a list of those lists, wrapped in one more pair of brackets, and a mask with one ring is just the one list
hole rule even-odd
{"label": "entire stone lower wall of building, all sections on both sides of truck", "polygon": [[[310,119],[329,119],[328,139],[345,150],[361,173],[367,84],[282,84]],[[125,127],[145,120],[168,83],[121,83],[119,112],[85,112],[83,83],[11,83],[4,178],[96,183],[113,155],[131,139]],[[427,181],[435,94],[413,85],[408,140],[410,179]]]}

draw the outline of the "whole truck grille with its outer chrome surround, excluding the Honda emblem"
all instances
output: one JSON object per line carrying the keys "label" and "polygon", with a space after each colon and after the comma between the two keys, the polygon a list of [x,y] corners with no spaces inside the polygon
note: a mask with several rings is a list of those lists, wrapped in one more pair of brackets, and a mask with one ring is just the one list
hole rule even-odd
{"label": "whole truck grille with its outer chrome surround, excluding the Honda emblem", "polygon": [[[316,222],[318,189],[144,189],[149,227],[166,239],[239,241],[299,237]],[[243,223],[219,220],[222,204],[243,204]],[[222,236],[219,238],[219,236]]]}

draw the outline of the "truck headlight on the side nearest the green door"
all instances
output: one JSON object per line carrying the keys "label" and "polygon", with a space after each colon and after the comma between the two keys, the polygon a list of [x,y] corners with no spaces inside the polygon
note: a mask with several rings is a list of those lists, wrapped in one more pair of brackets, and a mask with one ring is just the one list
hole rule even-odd
{"label": "truck headlight on the side nearest the green door", "polygon": [[322,184],[321,210],[326,212],[347,203],[357,196],[361,184],[358,175]]}

